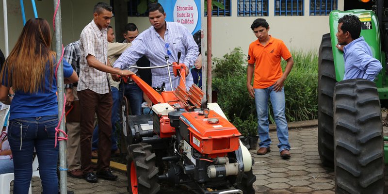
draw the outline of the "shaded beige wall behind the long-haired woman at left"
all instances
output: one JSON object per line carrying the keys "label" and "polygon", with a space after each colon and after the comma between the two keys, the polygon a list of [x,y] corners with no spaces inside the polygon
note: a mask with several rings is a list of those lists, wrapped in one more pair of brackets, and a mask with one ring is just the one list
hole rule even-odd
{"label": "shaded beige wall behind the long-haired woman at left", "polygon": [[[93,8],[97,2],[109,3],[110,0],[62,0],[62,41],[64,46],[80,39],[82,29],[93,19]],[[54,1],[53,0],[35,0],[38,17],[48,20],[51,29],[54,15]],[[30,0],[24,0],[24,10],[26,13],[26,20],[34,17],[32,11],[32,4]],[[3,5],[0,4],[0,49],[5,52],[4,43],[4,19],[3,19]],[[17,38],[23,29],[23,19],[21,16],[20,1],[7,0],[8,13],[8,44],[11,52]],[[114,19],[112,20],[114,29]],[[52,32],[52,31],[51,31]],[[51,33],[53,34],[53,33]],[[55,43],[55,41],[53,41]],[[53,45],[55,49],[55,46]]]}

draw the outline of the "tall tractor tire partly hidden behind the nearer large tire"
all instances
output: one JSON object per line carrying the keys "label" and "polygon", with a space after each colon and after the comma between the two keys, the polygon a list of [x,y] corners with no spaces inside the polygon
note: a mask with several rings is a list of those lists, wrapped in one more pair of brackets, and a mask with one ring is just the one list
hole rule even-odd
{"label": "tall tractor tire partly hidden behind the nearer large tire", "polygon": [[318,58],[318,153],[325,167],[334,167],[333,94],[336,73],[330,33],[322,36]]}

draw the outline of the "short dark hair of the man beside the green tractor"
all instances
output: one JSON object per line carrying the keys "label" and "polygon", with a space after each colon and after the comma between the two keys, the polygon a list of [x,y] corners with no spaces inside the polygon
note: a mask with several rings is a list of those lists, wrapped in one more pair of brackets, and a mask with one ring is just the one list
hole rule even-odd
{"label": "short dark hair of the man beside the green tractor", "polygon": [[339,18],[338,23],[342,23],[342,32],[349,32],[353,40],[360,37],[361,21],[356,15],[345,15]]}

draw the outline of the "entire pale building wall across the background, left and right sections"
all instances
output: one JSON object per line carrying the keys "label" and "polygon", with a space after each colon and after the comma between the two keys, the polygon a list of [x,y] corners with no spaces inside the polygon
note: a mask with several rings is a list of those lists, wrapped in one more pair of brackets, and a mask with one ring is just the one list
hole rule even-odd
{"label": "entire pale building wall across the background, left and right sections", "polygon": [[[109,3],[109,0],[61,1],[64,45],[79,39],[83,27],[93,19],[93,7],[99,1]],[[31,1],[25,0],[24,3],[27,19],[33,17]],[[38,16],[47,19],[52,28],[53,1],[38,0],[35,3]],[[322,35],[329,32],[329,17],[309,16],[309,0],[305,0],[304,7],[305,16],[274,16],[275,0],[269,0],[269,16],[263,18],[270,24],[269,33],[282,39],[290,49],[318,50]],[[338,8],[343,9],[343,0],[339,0]],[[0,10],[2,10],[2,4]],[[214,57],[222,57],[235,47],[241,47],[243,52],[247,53],[249,44],[256,40],[250,26],[258,17],[237,16],[237,0],[232,0],[231,12],[232,16],[212,17],[212,54]],[[7,13],[9,49],[11,50],[23,28],[19,1],[8,0]],[[202,21],[206,22],[206,19]],[[147,17],[128,17],[128,22],[135,23],[140,32],[150,26]],[[111,25],[114,29],[114,19]],[[4,48],[4,24],[1,14],[0,49],[4,51]]]}

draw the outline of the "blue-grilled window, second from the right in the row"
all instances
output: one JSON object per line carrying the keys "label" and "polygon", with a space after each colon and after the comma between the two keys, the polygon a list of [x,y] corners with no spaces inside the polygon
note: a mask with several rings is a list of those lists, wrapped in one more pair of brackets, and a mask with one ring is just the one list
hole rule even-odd
{"label": "blue-grilled window, second from the right in the row", "polygon": [[275,0],[275,16],[304,16],[304,0]]}

